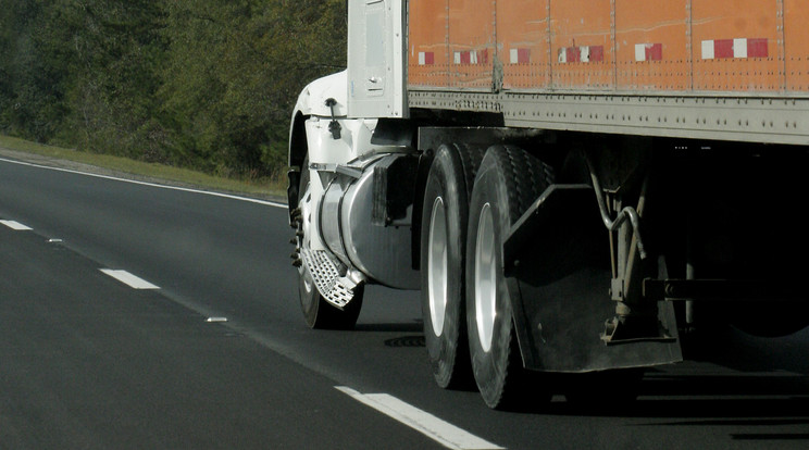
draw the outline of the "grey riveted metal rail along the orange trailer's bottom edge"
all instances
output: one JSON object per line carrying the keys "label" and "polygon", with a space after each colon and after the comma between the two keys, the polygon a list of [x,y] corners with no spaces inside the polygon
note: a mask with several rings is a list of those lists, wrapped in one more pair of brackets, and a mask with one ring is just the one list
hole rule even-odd
{"label": "grey riveted metal rail along the orange trailer's bottom edge", "polygon": [[806,97],[413,89],[409,104],[501,114],[507,127],[809,145]]}

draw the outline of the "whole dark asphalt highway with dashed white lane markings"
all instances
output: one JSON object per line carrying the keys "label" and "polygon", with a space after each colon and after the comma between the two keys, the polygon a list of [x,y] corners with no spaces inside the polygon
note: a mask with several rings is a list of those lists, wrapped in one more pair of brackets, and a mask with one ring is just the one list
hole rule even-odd
{"label": "whole dark asphalt highway with dashed white lane markings", "polygon": [[308,329],[276,205],[5,160],[0,221],[2,449],[809,447],[806,330],[729,330],[625,408],[495,412],[433,384],[418,292]]}

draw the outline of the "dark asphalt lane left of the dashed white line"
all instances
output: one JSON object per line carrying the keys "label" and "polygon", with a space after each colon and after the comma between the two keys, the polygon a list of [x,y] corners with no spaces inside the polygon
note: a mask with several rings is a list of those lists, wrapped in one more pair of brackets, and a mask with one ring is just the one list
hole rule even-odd
{"label": "dark asphalt lane left of the dashed white line", "polygon": [[5,229],[0,239],[0,448],[388,445],[368,427],[391,429],[401,448],[431,446],[332,380],[105,277],[59,242]]}

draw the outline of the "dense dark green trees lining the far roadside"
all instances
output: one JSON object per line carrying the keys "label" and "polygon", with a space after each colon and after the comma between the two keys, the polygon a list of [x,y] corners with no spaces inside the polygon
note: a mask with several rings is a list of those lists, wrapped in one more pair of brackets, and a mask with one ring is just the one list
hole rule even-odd
{"label": "dense dark green trees lining the far roadside", "polygon": [[307,82],[345,66],[345,0],[14,0],[0,133],[273,176]]}

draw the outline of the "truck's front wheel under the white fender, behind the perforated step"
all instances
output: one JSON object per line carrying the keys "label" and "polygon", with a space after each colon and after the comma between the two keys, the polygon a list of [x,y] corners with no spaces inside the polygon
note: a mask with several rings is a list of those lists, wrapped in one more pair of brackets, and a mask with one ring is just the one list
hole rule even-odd
{"label": "truck's front wheel under the white fender, behind the perforated step", "polygon": [[[298,190],[298,249],[309,248],[312,233],[312,208],[314,207],[309,189],[309,159],[303,163]],[[364,285],[354,288],[353,299],[343,310],[327,302],[314,286],[312,274],[306,264],[298,267],[298,297],[303,318],[313,329],[351,329],[357,324],[362,308]]]}

